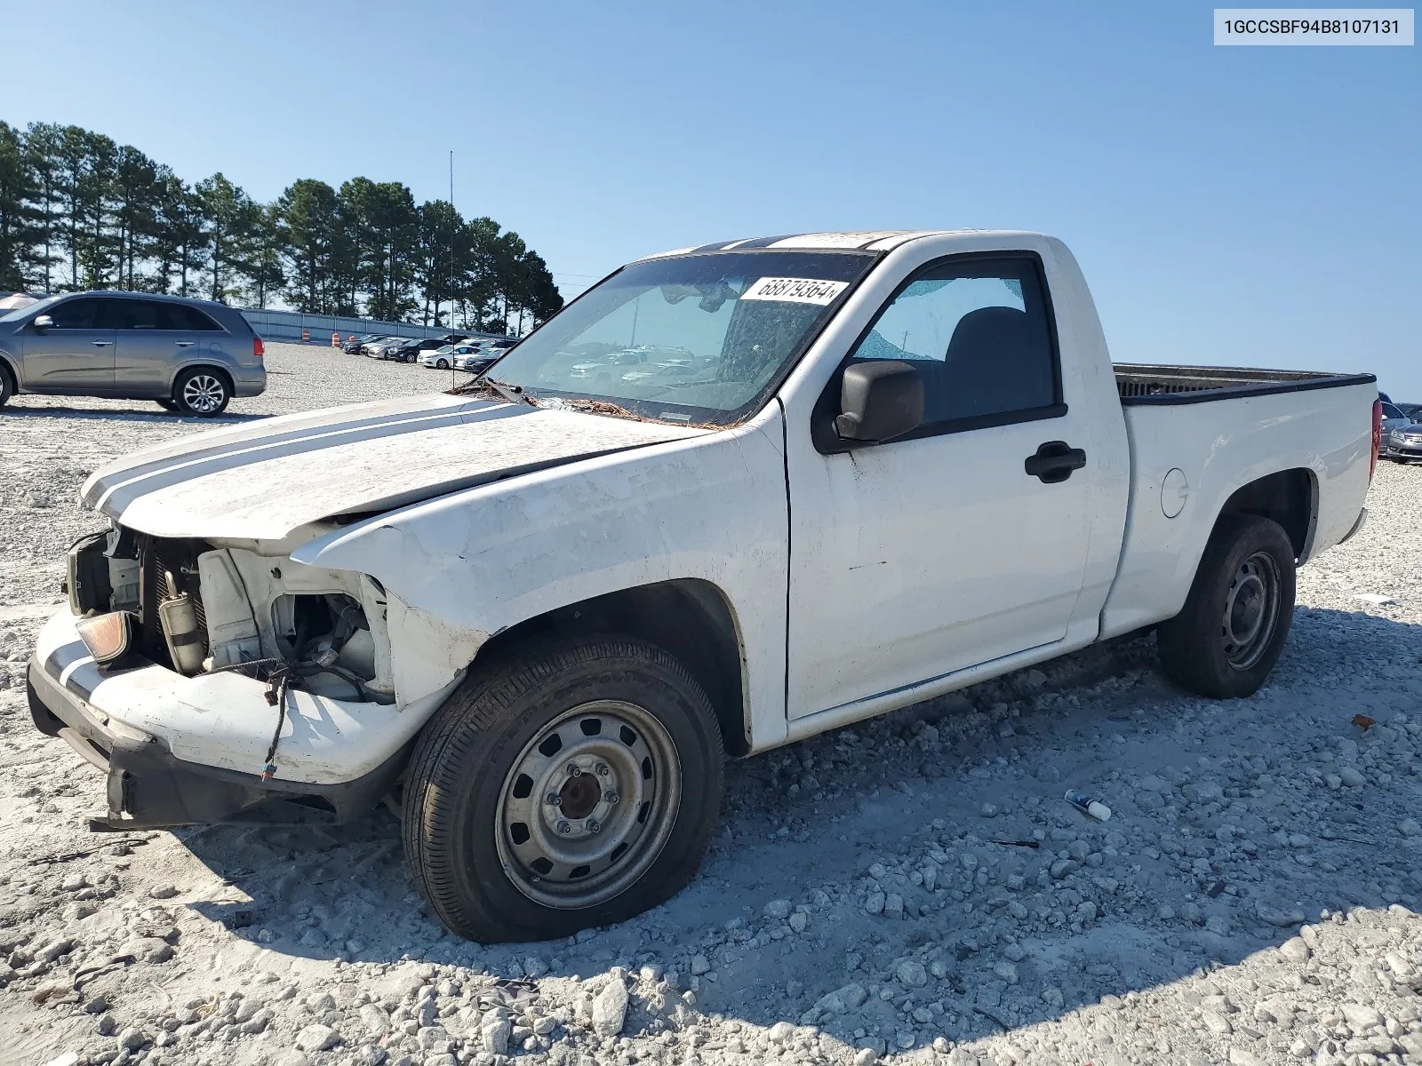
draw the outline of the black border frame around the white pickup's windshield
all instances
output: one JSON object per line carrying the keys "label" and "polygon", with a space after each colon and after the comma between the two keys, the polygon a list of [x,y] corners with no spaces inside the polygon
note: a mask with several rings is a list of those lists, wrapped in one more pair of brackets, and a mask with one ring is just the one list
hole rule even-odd
{"label": "black border frame around the white pickup's windshield", "polygon": [[[636,409],[636,408],[647,408],[648,405],[653,405],[653,402],[658,402],[658,404],[660,402],[665,402],[668,407],[681,407],[681,408],[694,408],[695,407],[695,405],[691,405],[691,404],[675,404],[674,401],[670,401],[670,399],[668,401],[661,401],[661,399],[651,401],[651,399],[630,399],[630,398],[623,398],[623,401],[626,401],[626,402],[620,402],[619,398],[616,398],[616,397],[604,397],[604,395],[599,395],[599,394],[577,394],[577,392],[566,392],[566,391],[565,392],[549,392],[547,394],[547,397],[549,397],[550,401],[552,399],[566,399],[567,407],[570,407],[573,409],[580,409],[580,408],[583,408],[586,405],[587,414],[600,414],[600,415],[611,416],[611,418],[634,418],[634,419],[641,421],[641,422],[657,422],[657,424],[661,424],[661,425],[694,425],[694,426],[702,426],[702,428],[707,428],[707,429],[731,429],[734,426],[744,425],[748,419],[754,418],[757,414],[759,414],[765,408],[765,404],[769,402],[771,397],[774,397],[781,389],[781,387],[785,384],[785,381],[789,378],[789,375],[795,372],[795,368],[799,367],[799,364],[805,360],[805,355],[809,354],[809,351],[815,347],[815,344],[819,341],[819,338],[825,334],[825,330],[828,330],[839,318],[840,313],[845,308],[845,304],[855,296],[855,293],[859,291],[860,286],[863,286],[873,276],[873,273],[879,269],[879,264],[883,262],[884,256],[889,254],[887,252],[867,252],[865,249],[765,249],[765,247],[747,247],[747,249],[718,249],[718,250],[697,249],[694,252],[683,252],[683,253],[677,253],[674,256],[648,256],[646,259],[637,259],[637,260],[633,260],[631,263],[626,263],[626,264],[617,267],[610,274],[607,274],[604,279],[602,279],[596,284],[593,284],[589,289],[586,289],[582,293],[579,293],[577,297],[574,297],[567,304],[565,304],[565,307],[557,314],[555,314],[547,321],[539,323],[533,330],[530,330],[529,333],[526,333],[523,337],[519,337],[515,344],[509,345],[508,348],[492,348],[492,351],[498,352],[498,358],[489,367],[486,367],[483,370],[483,372],[481,372],[479,377],[475,378],[472,382],[469,382],[468,385],[461,385],[459,388],[452,389],[452,391],[454,392],[478,391],[481,388],[481,382],[482,382],[483,378],[495,378],[495,379],[498,379],[499,378],[499,364],[502,364],[503,360],[508,355],[510,355],[512,352],[518,351],[523,345],[525,341],[528,341],[530,337],[535,337],[549,323],[553,323],[560,316],[567,314],[567,311],[572,307],[574,307],[580,300],[583,300],[584,297],[587,297],[587,296],[593,294],[594,291],[600,290],[603,286],[609,284],[613,279],[619,277],[620,274],[623,274],[630,267],[641,266],[644,263],[667,263],[667,262],[674,262],[674,260],[681,260],[681,259],[705,259],[705,257],[712,257],[712,256],[714,257],[731,257],[731,256],[765,254],[766,252],[771,252],[772,254],[774,253],[785,252],[785,253],[811,253],[811,254],[853,256],[856,259],[866,260],[866,263],[865,263],[865,269],[859,273],[859,276],[855,277],[845,287],[845,290],[842,293],[839,293],[839,296],[836,296],[828,304],[828,313],[820,320],[820,323],[818,325],[815,325],[813,328],[808,330],[805,333],[805,335],[801,337],[801,340],[786,352],[785,358],[781,360],[781,362],[779,362],[778,368],[775,370],[775,372],[769,375],[769,378],[759,388],[759,391],[755,392],[755,395],[752,395],[749,399],[747,399],[739,407],[737,407],[737,408],[734,408],[731,411],[715,411],[715,409],[711,409],[711,408],[698,408],[700,411],[710,412],[711,416],[707,418],[707,419],[704,419],[704,421],[697,421],[695,418],[687,418],[687,419],[681,419],[681,418],[658,418],[656,415],[648,415],[644,411],[637,411]],[[520,382],[506,382],[506,384],[518,387],[518,389],[522,392],[523,387],[522,387]],[[526,395],[528,395],[529,401],[536,407],[538,401],[539,401],[538,387],[536,385],[529,385],[529,389],[530,389],[530,392],[528,392]],[[617,408],[621,414],[617,414],[614,411],[609,411],[607,408]]]}

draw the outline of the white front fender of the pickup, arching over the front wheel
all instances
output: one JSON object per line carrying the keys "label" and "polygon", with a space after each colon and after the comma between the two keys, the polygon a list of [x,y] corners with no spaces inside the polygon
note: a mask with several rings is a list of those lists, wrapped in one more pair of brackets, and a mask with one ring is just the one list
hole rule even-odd
{"label": "white front fender of the pickup, arching over the front wheel", "polygon": [[[741,623],[759,746],[784,738],[788,522],[779,408],[745,426],[584,459],[417,503],[292,557],[370,574],[405,699],[493,634],[597,596],[700,578]],[[397,669],[400,667],[397,665]],[[401,691],[401,678],[395,678]]]}

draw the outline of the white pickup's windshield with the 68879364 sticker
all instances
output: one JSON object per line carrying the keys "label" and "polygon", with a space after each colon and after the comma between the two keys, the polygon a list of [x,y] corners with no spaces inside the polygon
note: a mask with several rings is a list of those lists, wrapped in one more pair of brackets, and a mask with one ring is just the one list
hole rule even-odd
{"label": "white pickup's windshield with the 68879364 sticker", "polygon": [[610,404],[657,421],[731,425],[765,401],[875,259],[755,250],[634,263],[512,348],[489,377],[540,407]]}

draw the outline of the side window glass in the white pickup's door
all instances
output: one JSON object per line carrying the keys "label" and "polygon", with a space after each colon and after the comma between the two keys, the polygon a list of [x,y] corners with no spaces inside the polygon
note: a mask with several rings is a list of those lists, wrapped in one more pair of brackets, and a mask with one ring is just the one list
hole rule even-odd
{"label": "side window glass in the white pickup's door", "polygon": [[1047,300],[1031,259],[929,267],[880,311],[852,358],[916,367],[924,424],[1031,412],[1061,401]]}

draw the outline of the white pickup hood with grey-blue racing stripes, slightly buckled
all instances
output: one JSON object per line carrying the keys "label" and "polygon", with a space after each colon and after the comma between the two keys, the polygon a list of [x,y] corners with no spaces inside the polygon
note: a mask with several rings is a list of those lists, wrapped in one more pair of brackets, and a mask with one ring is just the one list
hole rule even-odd
{"label": "white pickup hood with grey-blue racing stripes, slightly buckled", "polygon": [[159,537],[280,540],[499,478],[708,429],[469,397],[412,397],[264,418],[134,452],[80,495]]}

